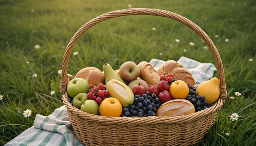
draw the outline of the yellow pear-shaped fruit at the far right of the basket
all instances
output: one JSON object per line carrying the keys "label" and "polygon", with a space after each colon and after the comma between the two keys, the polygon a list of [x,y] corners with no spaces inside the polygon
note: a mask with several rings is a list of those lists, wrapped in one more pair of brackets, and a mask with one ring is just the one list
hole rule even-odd
{"label": "yellow pear-shaped fruit at the far right of the basket", "polygon": [[196,88],[198,97],[204,95],[208,105],[215,103],[220,96],[220,80],[213,77],[211,80],[204,81]]}

